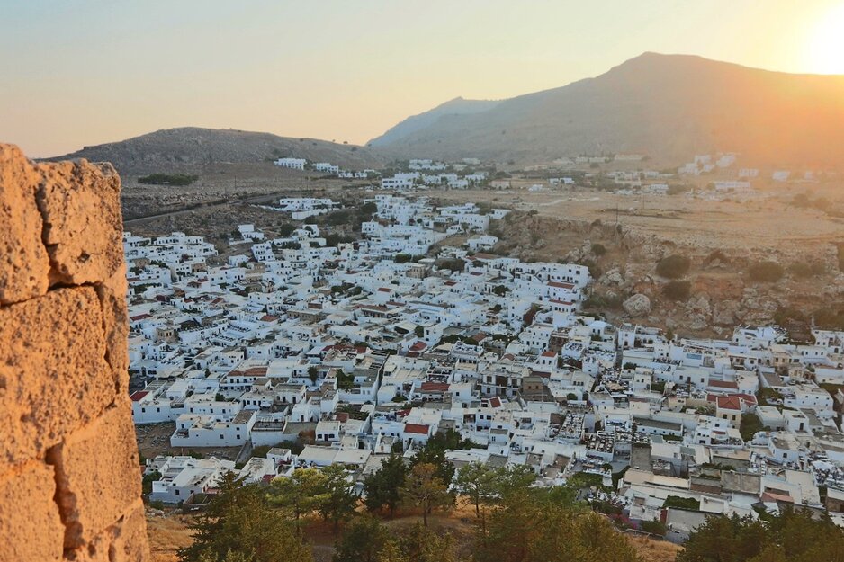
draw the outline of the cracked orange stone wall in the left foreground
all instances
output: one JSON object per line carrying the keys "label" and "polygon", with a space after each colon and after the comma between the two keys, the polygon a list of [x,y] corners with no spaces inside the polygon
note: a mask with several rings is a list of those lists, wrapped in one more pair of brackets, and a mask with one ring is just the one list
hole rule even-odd
{"label": "cracked orange stone wall in the left foreground", "polygon": [[0,145],[0,560],[147,560],[120,178]]}

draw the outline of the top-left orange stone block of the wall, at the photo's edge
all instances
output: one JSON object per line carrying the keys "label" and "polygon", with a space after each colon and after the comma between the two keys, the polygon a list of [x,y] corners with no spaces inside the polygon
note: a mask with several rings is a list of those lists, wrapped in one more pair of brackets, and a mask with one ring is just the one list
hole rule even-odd
{"label": "top-left orange stone block of the wall, at the photo's edge", "polygon": [[0,145],[0,305],[47,292],[49,257],[35,204],[39,181],[18,147]]}

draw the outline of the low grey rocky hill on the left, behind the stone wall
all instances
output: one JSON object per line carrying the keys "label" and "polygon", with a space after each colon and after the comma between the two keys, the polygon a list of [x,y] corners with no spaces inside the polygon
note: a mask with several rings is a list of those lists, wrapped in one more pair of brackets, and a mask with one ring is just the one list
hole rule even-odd
{"label": "low grey rocky hill on the left, behind the stone wall", "polygon": [[265,162],[294,156],[315,162],[330,162],[350,169],[384,164],[384,158],[370,147],[342,145],[313,138],[278,137],[233,129],[157,130],[95,147],[84,147],[72,154],[50,158],[87,158],[111,162],[121,174],[171,173],[229,163]]}

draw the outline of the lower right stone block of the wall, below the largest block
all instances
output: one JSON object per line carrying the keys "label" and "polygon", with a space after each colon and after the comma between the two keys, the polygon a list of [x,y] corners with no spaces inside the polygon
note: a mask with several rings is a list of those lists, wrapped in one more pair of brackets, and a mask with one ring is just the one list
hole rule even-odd
{"label": "lower right stone block of the wall, below the largest block", "polygon": [[105,531],[140,497],[140,461],[128,397],[50,450],[65,548]]}

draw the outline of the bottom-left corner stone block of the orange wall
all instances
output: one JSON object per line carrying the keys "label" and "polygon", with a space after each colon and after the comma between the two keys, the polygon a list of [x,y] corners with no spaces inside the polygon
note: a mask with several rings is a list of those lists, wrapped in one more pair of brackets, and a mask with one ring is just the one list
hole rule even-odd
{"label": "bottom-left corner stone block of the orange wall", "polygon": [[64,527],[53,468],[41,461],[0,477],[0,560],[58,560]]}

